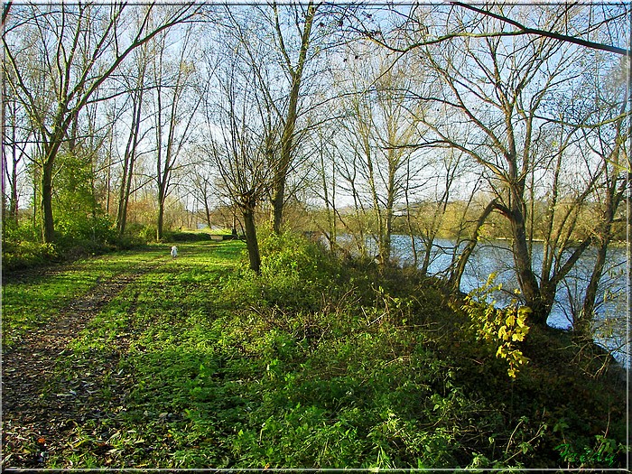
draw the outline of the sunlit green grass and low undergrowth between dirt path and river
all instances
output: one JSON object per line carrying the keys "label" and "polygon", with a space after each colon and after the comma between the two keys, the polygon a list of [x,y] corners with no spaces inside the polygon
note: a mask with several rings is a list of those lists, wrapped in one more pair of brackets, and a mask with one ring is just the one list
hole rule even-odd
{"label": "sunlit green grass and low undergrowth between dirt path and river", "polygon": [[[44,467],[624,465],[625,394],[564,336],[532,329],[512,379],[414,274],[343,264],[291,235],[263,239],[258,277],[239,241],[178,246],[60,356],[50,390],[76,380],[90,388],[70,395],[95,406],[66,423]],[[136,257],[106,257],[109,271]],[[7,286],[8,321],[30,314],[22,304],[54,317],[51,284],[31,283],[30,301]]]}

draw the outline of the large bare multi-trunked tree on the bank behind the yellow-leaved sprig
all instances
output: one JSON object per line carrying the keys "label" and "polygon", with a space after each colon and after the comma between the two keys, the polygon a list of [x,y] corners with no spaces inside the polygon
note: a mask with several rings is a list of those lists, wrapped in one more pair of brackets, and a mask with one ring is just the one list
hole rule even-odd
{"label": "large bare multi-trunked tree on the bank behind the yellow-leaved sprig", "polygon": [[[560,21],[554,10],[544,13],[550,15],[553,25]],[[490,22],[488,17],[482,18],[477,28],[502,31],[502,25]],[[533,320],[541,323],[551,311],[557,285],[590,245],[589,240],[573,241],[572,229],[578,205],[586,200],[594,181],[583,183],[572,201],[568,200],[571,194],[564,195],[563,205],[559,200],[562,163],[578,128],[558,126],[554,117],[544,112],[563,81],[571,81],[578,74],[570,65],[580,52],[563,50],[562,44],[543,37],[520,36],[512,42],[500,36],[476,40],[466,37],[453,40],[450,47],[443,43],[441,51],[428,49],[425,53],[428,66],[448,86],[448,92],[435,100],[476,125],[479,135],[466,141],[429,117],[424,121],[432,126],[438,142],[467,153],[488,173],[490,186],[497,194],[495,207],[511,227],[517,282],[534,312]],[[554,130],[559,136],[550,142],[555,147],[553,158],[547,158],[551,154],[541,153],[538,144]],[[552,172],[548,183],[552,191],[549,226],[539,274],[534,270],[527,205],[527,179],[538,167]]]}

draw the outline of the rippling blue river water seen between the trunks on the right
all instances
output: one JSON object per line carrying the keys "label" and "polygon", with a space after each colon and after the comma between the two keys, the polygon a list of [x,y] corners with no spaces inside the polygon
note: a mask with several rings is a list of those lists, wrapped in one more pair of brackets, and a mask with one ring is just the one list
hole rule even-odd
{"label": "rippling blue river water seen between the trunks on the right", "polygon": [[[394,256],[402,264],[413,263],[410,237],[393,236]],[[437,239],[432,246],[432,260],[429,273],[445,275],[454,255],[454,242],[448,239]],[[421,239],[415,242],[417,249],[422,248]],[[534,270],[542,265],[543,245],[534,243]],[[590,279],[595,262],[595,250],[587,250],[564,281],[559,285],[556,301],[548,319],[549,326],[559,329],[572,328],[573,312],[581,309],[581,302]],[[495,241],[477,246],[469,258],[460,289],[469,293],[487,282],[488,275],[497,274],[496,283],[502,283],[502,291],[493,295],[498,304],[507,304],[515,298],[514,290],[518,289],[516,274],[513,270],[514,260],[507,241]],[[608,263],[604,276],[599,282],[598,301],[596,306],[596,341],[612,351],[615,358],[629,367],[626,358],[626,337],[628,324],[626,249],[612,247],[609,250]]]}

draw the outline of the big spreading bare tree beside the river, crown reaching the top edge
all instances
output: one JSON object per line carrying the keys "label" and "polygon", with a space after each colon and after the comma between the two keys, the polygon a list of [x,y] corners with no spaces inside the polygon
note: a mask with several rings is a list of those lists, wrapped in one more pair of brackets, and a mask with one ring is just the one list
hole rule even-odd
{"label": "big spreading bare tree beside the river, crown reaching the top edge", "polygon": [[[590,239],[573,241],[572,229],[578,207],[586,202],[596,182],[584,182],[581,190],[571,191],[568,182],[562,182],[561,173],[564,157],[575,146],[581,124],[561,124],[548,108],[555,94],[572,87],[581,74],[584,51],[579,46],[569,47],[569,42],[554,35],[513,34],[513,25],[498,16],[546,31],[569,26],[581,31],[581,27],[590,30],[586,22],[592,11],[590,6],[548,5],[537,7],[534,14],[531,6],[507,5],[486,14],[437,7],[432,15],[434,23],[427,23],[419,21],[429,18],[422,8],[412,9],[390,38],[376,31],[367,34],[392,50],[423,56],[451,91],[434,98],[436,102],[479,128],[479,139],[466,142],[440,124],[433,124],[432,116],[425,117],[438,140],[468,153],[488,175],[497,194],[496,210],[507,218],[512,229],[516,279],[522,297],[534,312],[532,321],[545,323],[558,284],[590,246]],[[613,10],[612,14],[625,18],[620,11]],[[599,24],[610,23],[605,19]],[[556,150],[549,146],[544,152],[541,137],[554,134],[558,139],[548,144]],[[547,158],[546,153],[553,153],[556,159]],[[550,226],[544,236],[548,253],[539,270],[534,268],[528,228],[529,177],[534,173],[548,173],[553,186],[548,198],[553,204]]]}

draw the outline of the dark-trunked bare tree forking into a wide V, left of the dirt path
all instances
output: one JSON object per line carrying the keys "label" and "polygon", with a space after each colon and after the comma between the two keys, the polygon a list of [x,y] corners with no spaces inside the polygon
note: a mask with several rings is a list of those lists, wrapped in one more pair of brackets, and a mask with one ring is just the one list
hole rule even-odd
{"label": "dark-trunked bare tree forking into a wide V, left of the dirt path", "polygon": [[[42,139],[44,241],[55,237],[54,165],[61,144],[69,138],[72,121],[131,51],[174,24],[190,21],[197,10],[194,5],[132,9],[90,4],[13,5],[10,12],[5,9],[3,68],[9,87]],[[135,14],[142,18],[138,23],[133,23]],[[159,19],[151,23],[153,14]],[[24,37],[31,38],[31,44],[21,44]],[[42,107],[38,84],[50,91],[46,96],[54,99],[54,107]]]}

